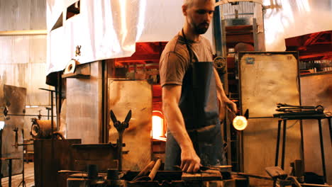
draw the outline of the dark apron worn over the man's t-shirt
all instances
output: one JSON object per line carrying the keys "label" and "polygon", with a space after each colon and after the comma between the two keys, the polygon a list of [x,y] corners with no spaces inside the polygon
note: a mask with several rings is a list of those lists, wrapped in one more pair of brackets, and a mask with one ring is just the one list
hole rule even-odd
{"label": "dark apron worn over the man's t-shirt", "polygon": [[[182,81],[179,108],[189,137],[203,166],[219,166],[226,162],[216,96],[216,79],[213,62],[192,62],[187,39],[184,40],[190,65]],[[197,58],[198,59],[198,58]],[[181,149],[170,130],[167,130],[165,170],[175,170],[181,165]]]}

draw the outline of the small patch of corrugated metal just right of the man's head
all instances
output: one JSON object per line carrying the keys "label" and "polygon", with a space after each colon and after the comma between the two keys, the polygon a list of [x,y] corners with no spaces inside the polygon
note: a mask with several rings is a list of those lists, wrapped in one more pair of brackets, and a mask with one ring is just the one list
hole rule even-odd
{"label": "small patch of corrugated metal just right of the man's head", "polygon": [[240,15],[240,13],[254,13],[255,3],[239,2],[238,5],[223,4],[221,6],[224,18],[235,18],[235,10],[238,10],[239,18],[253,17],[253,15]]}

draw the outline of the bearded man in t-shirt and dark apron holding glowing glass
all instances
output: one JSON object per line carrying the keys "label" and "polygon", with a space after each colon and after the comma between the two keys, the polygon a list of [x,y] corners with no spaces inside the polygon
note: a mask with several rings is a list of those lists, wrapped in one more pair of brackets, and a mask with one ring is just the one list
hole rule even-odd
{"label": "bearded man in t-shirt and dark apron holding glowing glass", "polygon": [[[202,34],[214,15],[214,1],[186,0],[182,30],[160,57],[162,108],[167,121],[165,170],[195,173],[201,165],[224,164],[220,115],[236,104],[223,91],[213,66],[209,40]],[[223,117],[221,117],[223,118]]]}

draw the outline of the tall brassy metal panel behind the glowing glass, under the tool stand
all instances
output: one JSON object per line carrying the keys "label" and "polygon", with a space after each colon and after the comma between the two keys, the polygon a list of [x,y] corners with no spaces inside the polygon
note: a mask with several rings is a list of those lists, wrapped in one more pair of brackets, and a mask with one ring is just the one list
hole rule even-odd
{"label": "tall brassy metal panel behind the glowing glass, under the tool stand", "polygon": [[[243,131],[243,166],[250,174],[266,175],[265,167],[275,165],[277,144],[276,103],[299,105],[297,52],[240,52],[241,113],[249,109],[248,128]],[[301,159],[301,131],[298,121],[289,120],[284,170]],[[280,163],[280,162],[279,162]],[[250,184],[268,185],[251,180]]]}

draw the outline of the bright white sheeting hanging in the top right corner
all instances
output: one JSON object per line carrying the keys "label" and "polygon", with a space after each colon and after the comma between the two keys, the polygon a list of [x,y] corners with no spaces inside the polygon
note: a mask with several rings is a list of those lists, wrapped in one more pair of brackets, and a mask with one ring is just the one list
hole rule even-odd
{"label": "bright white sheeting hanging in the top right corner", "polygon": [[331,0],[264,0],[267,51],[286,50],[285,38],[332,30]]}

